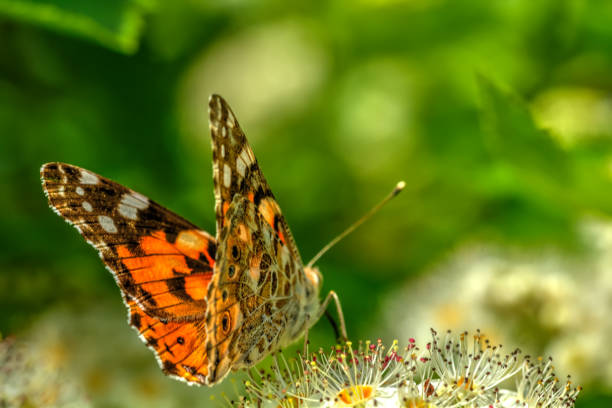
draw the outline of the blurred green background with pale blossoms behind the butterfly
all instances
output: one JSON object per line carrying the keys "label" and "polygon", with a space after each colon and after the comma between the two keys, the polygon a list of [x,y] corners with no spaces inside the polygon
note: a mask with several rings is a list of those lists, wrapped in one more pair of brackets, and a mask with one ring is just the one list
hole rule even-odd
{"label": "blurred green background with pale blossoms behind the butterfly", "polygon": [[215,92],[305,261],[406,181],[319,262],[351,337],[480,327],[611,406],[611,73],[608,1],[0,0],[0,332],[36,362],[0,358],[15,400],[233,392],[163,376],[38,173],[91,169],[214,233]]}

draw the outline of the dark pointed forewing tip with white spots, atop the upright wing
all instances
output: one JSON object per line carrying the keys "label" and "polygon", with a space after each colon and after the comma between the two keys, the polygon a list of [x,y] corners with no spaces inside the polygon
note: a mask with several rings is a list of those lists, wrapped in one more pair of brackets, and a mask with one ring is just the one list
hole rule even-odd
{"label": "dark pointed forewing tip with white spots, atop the upright wing", "polygon": [[235,196],[255,204],[257,211],[287,245],[291,255],[301,258],[289,226],[259,168],[255,154],[238,124],[228,103],[219,95],[212,95],[208,104],[212,136],[213,178],[217,239]]}

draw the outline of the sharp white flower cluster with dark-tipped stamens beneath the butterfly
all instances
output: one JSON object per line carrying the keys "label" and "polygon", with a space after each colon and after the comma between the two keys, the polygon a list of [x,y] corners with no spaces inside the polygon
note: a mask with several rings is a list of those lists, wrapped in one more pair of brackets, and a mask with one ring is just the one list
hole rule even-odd
{"label": "sharp white flower cluster with dark-tipped stamens beneath the butterfly", "polygon": [[410,339],[350,342],[331,352],[307,352],[287,361],[275,356],[268,370],[251,371],[246,395],[232,405],[249,407],[566,408],[580,387],[561,383],[551,360],[503,354],[480,332],[440,337],[424,348]]}

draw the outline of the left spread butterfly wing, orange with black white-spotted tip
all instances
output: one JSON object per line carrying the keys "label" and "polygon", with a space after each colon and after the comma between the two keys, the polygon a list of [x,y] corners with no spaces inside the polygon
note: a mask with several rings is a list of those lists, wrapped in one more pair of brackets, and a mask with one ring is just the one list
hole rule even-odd
{"label": "left spread butterfly wing, orange with black white-spotted tip", "polygon": [[98,250],[121,289],[131,325],[155,351],[162,369],[204,383],[202,321],[215,239],[142,194],[88,170],[47,163],[41,178],[51,208]]}

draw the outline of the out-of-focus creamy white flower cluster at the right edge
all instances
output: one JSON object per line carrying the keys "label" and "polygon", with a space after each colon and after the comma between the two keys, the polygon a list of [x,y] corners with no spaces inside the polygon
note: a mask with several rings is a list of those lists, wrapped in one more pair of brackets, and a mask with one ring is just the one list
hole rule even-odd
{"label": "out-of-focus creamy white flower cluster at the right edge", "polygon": [[390,293],[376,330],[420,337],[430,326],[481,328],[496,342],[555,356],[558,370],[585,386],[612,386],[612,222],[590,220],[581,231],[585,251],[573,254],[460,247]]}

